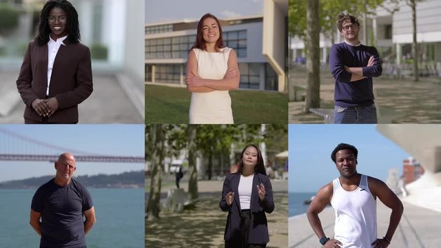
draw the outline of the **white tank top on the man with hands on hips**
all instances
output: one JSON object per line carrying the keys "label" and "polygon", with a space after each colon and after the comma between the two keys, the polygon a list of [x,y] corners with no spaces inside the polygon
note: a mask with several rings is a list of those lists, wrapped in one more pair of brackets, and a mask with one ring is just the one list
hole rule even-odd
{"label": "white tank top on the man with hands on hips", "polygon": [[361,175],[360,185],[353,192],[343,189],[338,178],[332,183],[331,205],[336,213],[334,239],[342,242],[342,248],[370,248],[377,240],[377,208],[367,176]]}

